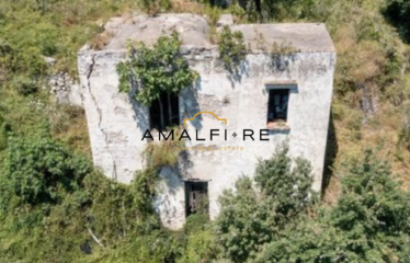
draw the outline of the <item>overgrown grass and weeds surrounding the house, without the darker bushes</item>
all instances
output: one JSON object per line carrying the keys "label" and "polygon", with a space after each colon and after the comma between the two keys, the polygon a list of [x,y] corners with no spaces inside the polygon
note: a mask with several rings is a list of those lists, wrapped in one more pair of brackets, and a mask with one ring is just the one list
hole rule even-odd
{"label": "overgrown grass and weeds surrounding the house, without the darker bushes", "polygon": [[[170,7],[157,7],[150,12],[168,9],[198,13],[206,15],[212,25],[221,13],[232,13],[237,22],[257,20],[239,4],[223,10],[204,2],[173,0]],[[61,142],[61,149],[70,145],[76,152],[90,155],[83,112],[54,105],[43,89],[45,78],[57,70],[76,77],[78,49],[95,39],[109,18],[139,12],[139,3],[134,0],[0,2],[0,162],[8,158],[10,136],[24,140],[34,136],[54,137]],[[397,28],[383,15],[388,1],[289,3],[275,1],[274,15],[264,15],[265,22],[324,22],[338,50],[332,107],[338,152],[332,170],[339,178],[331,178],[326,202],[338,202],[342,192],[340,171],[346,160],[358,159],[368,146],[379,146],[378,153],[388,160],[394,172],[400,172],[397,180],[401,181],[401,187],[410,187],[406,121],[410,52]],[[104,45],[105,41],[96,38],[93,43]],[[56,66],[49,67],[44,56],[57,58]],[[368,100],[377,103],[364,111],[363,101]],[[148,158],[157,167],[172,165],[178,160],[178,155],[163,155],[166,146],[151,145],[147,149]],[[78,190],[68,193],[57,190],[59,202],[53,205],[29,205],[12,198],[0,219],[0,261],[210,261],[210,255],[218,253],[213,245],[215,235],[210,225],[200,218],[193,225],[201,222],[203,228],[175,233],[162,229],[158,218],[151,216],[149,199],[155,178],[155,171],[141,171],[132,185],[122,185],[89,172],[78,182]],[[148,214],[143,216],[141,211]],[[92,254],[88,254],[90,251]]]}

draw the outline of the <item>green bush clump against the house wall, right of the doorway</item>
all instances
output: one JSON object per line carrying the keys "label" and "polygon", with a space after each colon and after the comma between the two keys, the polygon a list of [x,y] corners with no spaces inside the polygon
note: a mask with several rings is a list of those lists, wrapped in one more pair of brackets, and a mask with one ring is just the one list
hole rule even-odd
{"label": "green bush clump against the house wall, right of the doorway", "polygon": [[283,145],[271,159],[259,162],[254,175],[258,187],[243,176],[236,182],[235,191],[220,196],[216,232],[224,255],[231,261],[254,258],[264,243],[312,205],[310,164],[296,159],[291,168],[292,162]]}

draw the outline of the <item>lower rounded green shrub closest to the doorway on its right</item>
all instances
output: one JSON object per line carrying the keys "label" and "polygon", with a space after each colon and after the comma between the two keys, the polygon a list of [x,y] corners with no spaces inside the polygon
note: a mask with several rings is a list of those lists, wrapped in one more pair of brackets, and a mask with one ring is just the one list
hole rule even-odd
{"label": "lower rounded green shrub closest to the doorway on its right", "polygon": [[263,203],[251,179],[239,179],[235,188],[220,197],[216,232],[224,255],[234,262],[244,262],[277,232],[273,222],[276,214]]}

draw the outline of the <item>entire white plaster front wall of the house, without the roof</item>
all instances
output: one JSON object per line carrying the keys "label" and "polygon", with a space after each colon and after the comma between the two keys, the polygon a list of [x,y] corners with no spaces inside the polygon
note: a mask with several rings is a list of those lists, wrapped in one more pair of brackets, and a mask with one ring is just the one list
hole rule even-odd
{"label": "entire white plaster front wall of the house, without the roof", "polygon": [[[209,114],[189,122],[192,141],[186,146],[235,146],[243,147],[243,151],[189,151],[178,168],[163,169],[156,207],[164,225],[179,228],[184,224],[183,180],[208,180],[209,214],[215,218],[220,193],[240,175],[253,175],[258,159],[269,158],[284,140],[288,140],[293,157],[301,156],[311,162],[314,188],[320,190],[335,53],[301,50],[282,59],[253,53],[247,55],[239,73],[232,76],[218,59],[215,46],[184,45],[182,50],[201,78],[180,96],[181,123],[201,111],[227,118],[227,125]],[[141,138],[149,122],[148,108],[135,102],[133,94],[118,93],[115,66],[124,58],[124,49],[84,48],[79,53],[79,73],[94,164],[107,176],[128,183],[134,172],[144,167],[141,151],[147,142]],[[289,129],[271,130],[270,140],[260,141],[259,130],[266,128],[266,87],[270,88],[266,83],[294,83],[288,105]],[[201,137],[208,138],[209,130],[216,128],[220,129],[220,136],[213,141],[195,140],[195,129]],[[224,129],[228,130],[227,141]],[[243,129],[254,129],[255,140],[243,141]]]}

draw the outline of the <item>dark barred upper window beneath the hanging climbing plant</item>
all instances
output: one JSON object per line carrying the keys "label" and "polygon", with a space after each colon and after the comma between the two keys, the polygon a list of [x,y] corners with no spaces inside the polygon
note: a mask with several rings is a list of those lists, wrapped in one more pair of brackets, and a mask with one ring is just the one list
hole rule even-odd
{"label": "dark barred upper window beneath the hanging climbing plant", "polygon": [[167,127],[180,125],[179,104],[176,94],[161,92],[160,98],[155,100],[149,107],[151,129],[164,130]]}

